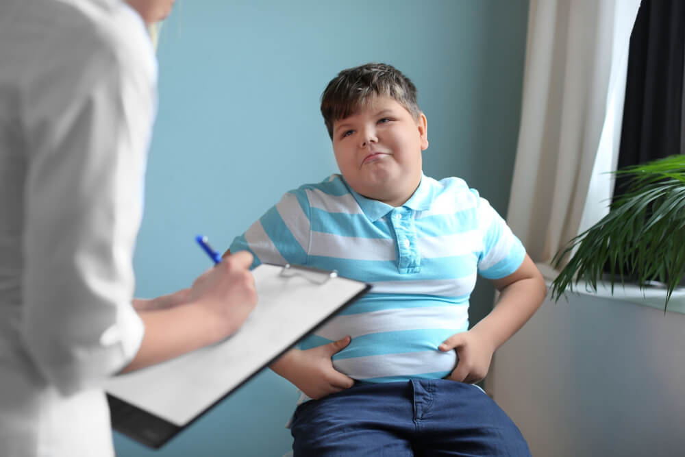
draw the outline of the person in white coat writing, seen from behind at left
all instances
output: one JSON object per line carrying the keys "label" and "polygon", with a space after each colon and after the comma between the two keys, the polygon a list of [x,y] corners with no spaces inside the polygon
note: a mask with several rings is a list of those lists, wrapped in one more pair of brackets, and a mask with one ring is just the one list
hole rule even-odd
{"label": "person in white coat writing, seen from behind at left", "polygon": [[252,258],[133,299],[173,0],[0,2],[0,456],[114,455],[102,385],[235,332]]}

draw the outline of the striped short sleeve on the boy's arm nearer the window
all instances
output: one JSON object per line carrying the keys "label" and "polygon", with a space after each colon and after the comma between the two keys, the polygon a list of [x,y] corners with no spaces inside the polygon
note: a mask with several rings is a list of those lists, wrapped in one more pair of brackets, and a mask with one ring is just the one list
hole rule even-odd
{"label": "striped short sleeve on the boy's arm nearer the window", "polygon": [[[472,190],[477,196],[477,192]],[[508,276],[523,263],[525,249],[506,221],[490,206],[477,197],[478,229],[482,234],[482,252],[478,258],[478,273],[490,280]]]}

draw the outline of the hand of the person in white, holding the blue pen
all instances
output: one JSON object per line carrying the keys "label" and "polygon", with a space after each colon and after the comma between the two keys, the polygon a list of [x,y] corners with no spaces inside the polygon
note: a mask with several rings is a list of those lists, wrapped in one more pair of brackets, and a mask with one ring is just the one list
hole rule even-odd
{"label": "hand of the person in white, holding the blue pen", "polygon": [[201,306],[219,323],[219,338],[234,334],[257,304],[255,281],[249,267],[253,256],[241,251],[225,256],[192,283],[188,301]]}

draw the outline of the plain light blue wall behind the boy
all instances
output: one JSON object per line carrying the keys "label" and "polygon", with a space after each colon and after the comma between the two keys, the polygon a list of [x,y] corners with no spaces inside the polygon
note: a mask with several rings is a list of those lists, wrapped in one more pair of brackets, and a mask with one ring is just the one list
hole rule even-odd
{"label": "plain light blue wall behind the boy", "polygon": [[[336,172],[319,114],[341,69],[387,62],[419,88],[424,171],[458,175],[506,214],[527,0],[178,1],[166,21],[160,108],[136,251],[137,294],[187,286],[284,191]],[[493,289],[473,295],[472,320]],[[158,452],[115,434],[119,457],[282,456],[295,388],[270,371]]]}

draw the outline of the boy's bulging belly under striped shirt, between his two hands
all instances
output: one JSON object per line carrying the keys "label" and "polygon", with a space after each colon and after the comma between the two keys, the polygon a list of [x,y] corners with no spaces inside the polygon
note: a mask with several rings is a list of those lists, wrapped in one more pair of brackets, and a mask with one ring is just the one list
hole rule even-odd
{"label": "boy's bulging belly under striped shirt, between his two hands", "polygon": [[[371,306],[368,299],[361,299],[356,308],[352,304],[346,313],[316,330],[309,341],[303,342],[303,349],[351,336],[349,345],[332,357],[333,366],[361,382],[449,375],[456,367],[456,352],[443,352],[438,346],[468,329],[468,306],[413,299],[399,307],[396,298],[379,303],[382,298],[375,299]],[[384,308],[388,304],[395,307]]]}

